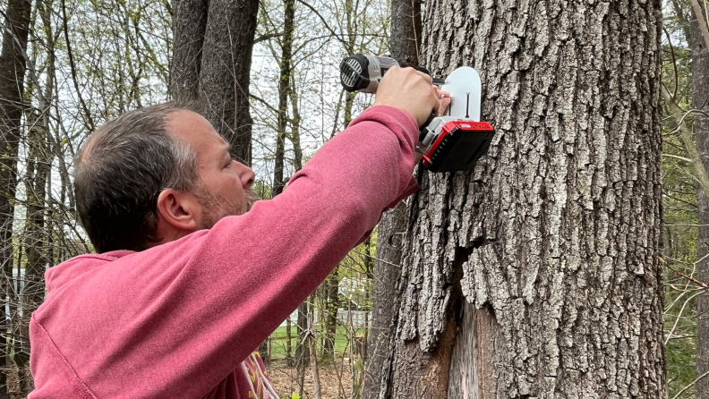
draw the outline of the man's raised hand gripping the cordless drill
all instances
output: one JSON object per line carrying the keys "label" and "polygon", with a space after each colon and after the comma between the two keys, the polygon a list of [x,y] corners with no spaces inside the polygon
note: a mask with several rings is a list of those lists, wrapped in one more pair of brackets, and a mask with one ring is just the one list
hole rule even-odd
{"label": "man's raised hand gripping the cordless drill", "polygon": [[437,96],[437,89],[432,84],[431,76],[418,72],[414,68],[395,66],[381,79],[374,105],[402,109],[414,116],[416,123],[421,127],[432,112],[438,111],[442,93],[438,92]]}

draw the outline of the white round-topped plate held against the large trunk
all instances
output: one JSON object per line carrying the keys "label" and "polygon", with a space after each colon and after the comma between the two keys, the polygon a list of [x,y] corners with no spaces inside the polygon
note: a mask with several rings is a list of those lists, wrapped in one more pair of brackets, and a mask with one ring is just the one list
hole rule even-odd
{"label": "white round-topped plate held against the large trunk", "polygon": [[[450,93],[450,106],[446,116],[472,119],[480,122],[480,97],[483,85],[480,75],[469,66],[461,66],[446,78],[446,84],[440,87]],[[470,101],[468,102],[468,93]]]}

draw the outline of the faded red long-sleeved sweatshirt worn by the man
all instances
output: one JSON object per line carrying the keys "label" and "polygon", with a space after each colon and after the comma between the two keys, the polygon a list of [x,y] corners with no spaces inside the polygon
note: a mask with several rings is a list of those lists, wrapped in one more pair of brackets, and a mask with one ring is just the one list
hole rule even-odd
{"label": "faded red long-sleeved sweatshirt worn by the man", "polygon": [[30,399],[259,397],[250,353],[418,188],[417,135],[411,115],[374,106],[274,200],[175,242],[47,270]]}

